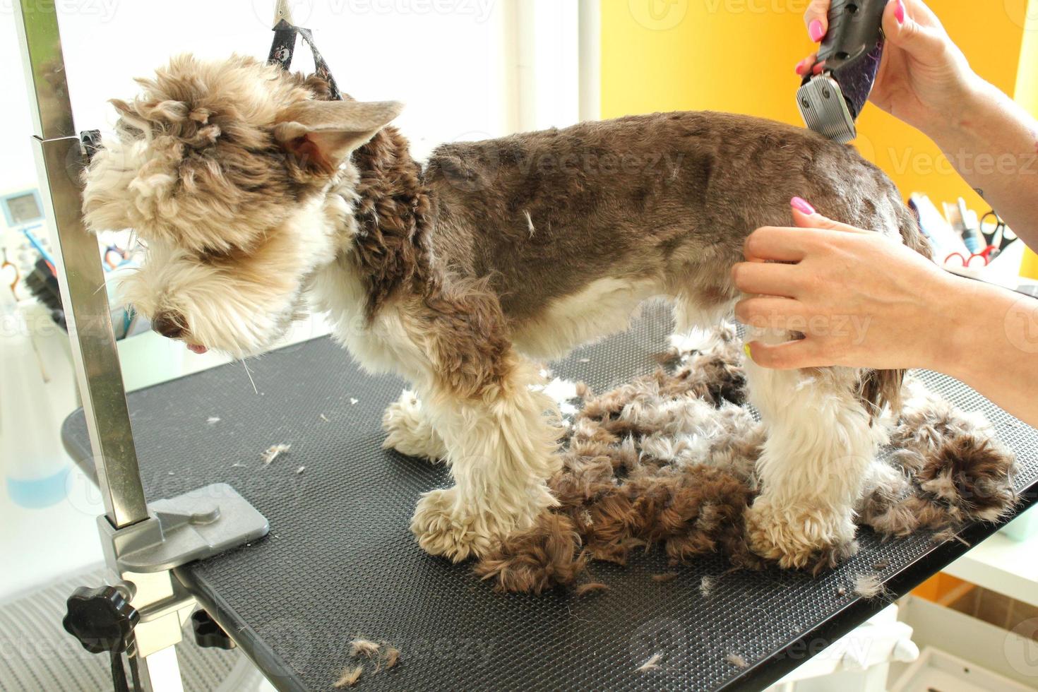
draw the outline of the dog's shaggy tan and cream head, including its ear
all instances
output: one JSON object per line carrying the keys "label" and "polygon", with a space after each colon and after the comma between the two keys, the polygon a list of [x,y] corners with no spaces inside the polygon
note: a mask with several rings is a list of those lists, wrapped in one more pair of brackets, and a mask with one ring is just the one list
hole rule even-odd
{"label": "dog's shaggy tan and cream head, including its ear", "polygon": [[156,331],[196,352],[261,352],[349,240],[344,164],[401,105],[321,101],[321,80],[244,57],[179,57],[138,83],[112,102],[116,137],[84,173],[86,225],[145,245],[122,289]]}

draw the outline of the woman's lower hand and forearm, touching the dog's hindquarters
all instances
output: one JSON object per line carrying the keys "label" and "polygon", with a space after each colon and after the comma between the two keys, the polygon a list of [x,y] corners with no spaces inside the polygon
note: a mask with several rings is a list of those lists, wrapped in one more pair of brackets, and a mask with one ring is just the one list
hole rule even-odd
{"label": "woman's lower hand and forearm, touching the dog's hindquarters", "polygon": [[948,274],[876,232],[837,223],[794,198],[796,227],[746,239],[740,322],[802,332],[747,344],[770,368],[926,367],[951,375],[1038,426],[1038,300]]}

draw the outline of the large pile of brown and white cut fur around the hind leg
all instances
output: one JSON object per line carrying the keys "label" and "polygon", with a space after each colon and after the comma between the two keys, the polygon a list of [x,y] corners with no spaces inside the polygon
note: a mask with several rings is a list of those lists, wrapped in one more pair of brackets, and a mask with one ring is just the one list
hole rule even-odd
{"label": "large pile of brown and white cut fur around the hind leg", "polygon": [[[699,351],[676,348],[670,369],[601,395],[578,388],[583,408],[563,433],[563,469],[549,482],[558,506],[480,560],[480,576],[498,590],[540,593],[574,584],[593,560],[625,564],[632,551],[653,546],[673,565],[709,553],[725,555],[736,569],[768,564],[749,551],[743,524],[758,492],[755,464],[764,432],[736,405],[745,400],[741,349],[728,329],[706,341]],[[884,537],[904,536],[1010,511],[1015,460],[990,425],[917,383],[905,393],[896,420],[877,419],[891,426],[896,450],[886,464],[876,464],[858,523]],[[819,551],[814,572],[856,551],[855,542]],[[700,589],[709,596],[713,582],[706,579]]]}

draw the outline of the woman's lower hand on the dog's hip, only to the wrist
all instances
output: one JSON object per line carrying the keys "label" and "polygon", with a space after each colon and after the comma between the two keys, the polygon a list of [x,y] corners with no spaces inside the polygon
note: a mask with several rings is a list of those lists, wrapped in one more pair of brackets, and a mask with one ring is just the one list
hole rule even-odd
{"label": "woman's lower hand on the dog's hip, only to the wrist", "polygon": [[[837,223],[795,198],[797,227],[758,228],[732,275],[755,295],[735,308],[739,322],[802,332],[780,344],[753,342],[759,365],[939,369],[951,335],[968,315],[946,314],[954,277],[919,253],[873,231]],[[782,262],[782,264],[778,264]]]}

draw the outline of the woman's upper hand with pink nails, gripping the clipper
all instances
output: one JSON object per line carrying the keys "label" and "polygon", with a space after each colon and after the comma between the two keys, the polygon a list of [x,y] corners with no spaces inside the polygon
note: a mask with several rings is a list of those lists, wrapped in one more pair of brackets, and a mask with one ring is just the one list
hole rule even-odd
{"label": "woman's upper hand with pink nails, gripping the clipper", "polygon": [[[812,0],[804,22],[815,43],[828,30],[830,0]],[[927,134],[948,124],[973,88],[973,71],[936,16],[922,0],[891,0],[883,12],[886,48],[870,101]],[[796,65],[818,74],[817,53]],[[932,136],[932,135],[931,135]]]}

